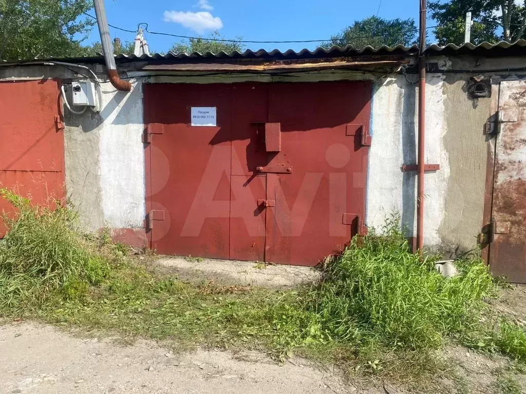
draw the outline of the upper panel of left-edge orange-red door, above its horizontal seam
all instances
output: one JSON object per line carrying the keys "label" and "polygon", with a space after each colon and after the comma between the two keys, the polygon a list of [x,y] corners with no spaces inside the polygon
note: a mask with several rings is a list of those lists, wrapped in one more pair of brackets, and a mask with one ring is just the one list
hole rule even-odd
{"label": "upper panel of left-edge orange-red door, above its horizontal seam", "polygon": [[0,169],[62,172],[58,91],[58,82],[51,79],[0,82]]}

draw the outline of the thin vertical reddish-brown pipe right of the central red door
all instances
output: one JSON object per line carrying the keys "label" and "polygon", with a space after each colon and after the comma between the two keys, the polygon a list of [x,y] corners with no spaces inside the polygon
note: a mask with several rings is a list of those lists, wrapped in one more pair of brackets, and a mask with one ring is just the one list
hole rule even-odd
{"label": "thin vertical reddish-brown pipe right of the central red door", "polygon": [[418,53],[418,161],[417,161],[417,249],[424,246],[424,165],[426,155],[426,19],[427,0],[420,0],[420,40]]}

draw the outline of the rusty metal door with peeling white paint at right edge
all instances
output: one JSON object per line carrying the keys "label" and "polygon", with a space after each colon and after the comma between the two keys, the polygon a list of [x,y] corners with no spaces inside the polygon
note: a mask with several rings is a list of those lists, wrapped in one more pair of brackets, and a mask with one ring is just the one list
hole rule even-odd
{"label": "rusty metal door with peeling white paint at right edge", "polygon": [[493,275],[526,283],[526,82],[500,84],[493,184]]}

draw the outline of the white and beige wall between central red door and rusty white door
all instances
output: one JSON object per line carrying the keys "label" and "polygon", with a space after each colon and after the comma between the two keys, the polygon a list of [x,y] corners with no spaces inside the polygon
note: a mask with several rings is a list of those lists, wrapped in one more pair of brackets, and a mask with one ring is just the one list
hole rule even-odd
{"label": "white and beige wall between central red door and rusty white door", "polygon": [[[446,255],[477,247],[484,205],[490,99],[468,98],[467,74],[428,74],[426,163],[440,164],[424,178],[424,243]],[[417,76],[382,78],[373,92],[367,224],[381,227],[391,214],[416,235]]]}

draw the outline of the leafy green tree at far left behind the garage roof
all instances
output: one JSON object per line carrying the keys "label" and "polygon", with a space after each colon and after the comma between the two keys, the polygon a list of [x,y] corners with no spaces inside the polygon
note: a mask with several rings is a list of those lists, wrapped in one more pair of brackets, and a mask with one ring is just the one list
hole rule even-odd
{"label": "leafy green tree at far left behind the garage roof", "polygon": [[76,56],[94,25],[91,0],[0,0],[0,59]]}

